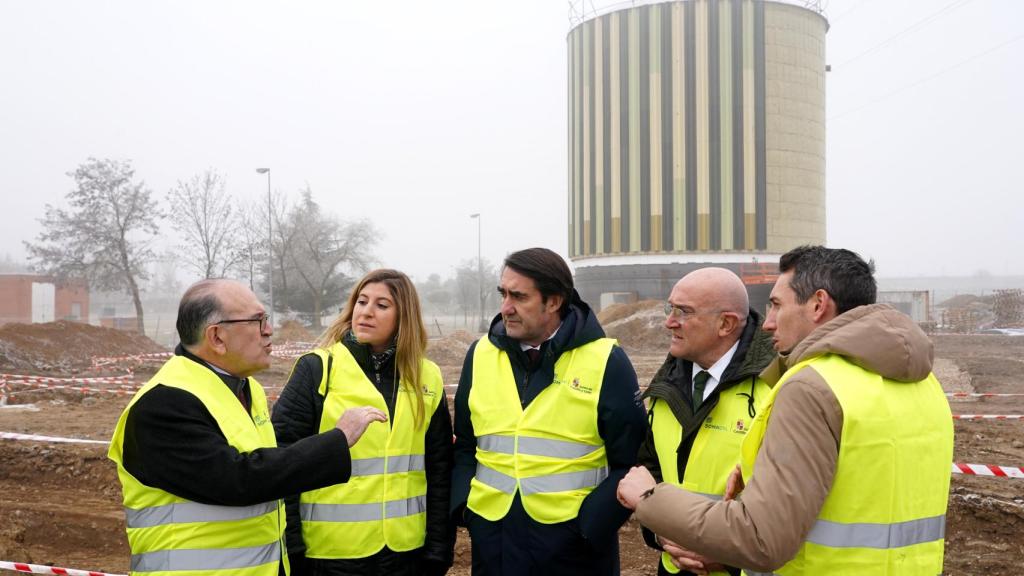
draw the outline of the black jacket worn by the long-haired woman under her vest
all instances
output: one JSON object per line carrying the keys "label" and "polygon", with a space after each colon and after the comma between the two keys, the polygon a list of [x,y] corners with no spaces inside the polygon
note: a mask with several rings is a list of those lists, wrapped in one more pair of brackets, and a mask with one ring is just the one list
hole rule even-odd
{"label": "black jacket worn by the long-haired woman under her vest", "polygon": [[[398,377],[394,358],[375,370],[367,346],[343,342],[356,363],[384,398],[388,413],[394,416],[394,386]],[[288,384],[273,407],[274,431],[278,444],[289,446],[315,435],[324,413],[324,397],[317,388],[324,365],[316,355],[306,355],[295,363]],[[334,384],[332,384],[334,385]],[[441,398],[437,410],[430,415],[425,440],[425,472],[427,477],[427,534],[423,547],[408,552],[395,552],[386,546],[374,556],[355,560],[306,559],[302,541],[298,495],[286,498],[288,528],[286,538],[292,561],[292,576],[311,575],[388,575],[431,576],[444,574],[452,566],[455,548],[455,526],[449,522],[447,505],[452,472],[452,418],[447,399]]]}

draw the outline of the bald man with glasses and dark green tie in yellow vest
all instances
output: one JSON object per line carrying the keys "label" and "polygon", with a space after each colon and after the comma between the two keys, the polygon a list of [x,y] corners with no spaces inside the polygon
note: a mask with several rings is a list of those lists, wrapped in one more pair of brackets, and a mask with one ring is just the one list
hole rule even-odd
{"label": "bald man with glasses and dark green tie in yellow vest", "polygon": [[[683,277],[665,304],[669,356],[647,387],[650,429],[639,463],[659,482],[721,499],[755,402],[768,395],[758,377],[774,358],[771,335],[750,308],[732,272],[700,269]],[[738,573],[729,559],[708,559],[644,529],[662,549],[658,574]]]}

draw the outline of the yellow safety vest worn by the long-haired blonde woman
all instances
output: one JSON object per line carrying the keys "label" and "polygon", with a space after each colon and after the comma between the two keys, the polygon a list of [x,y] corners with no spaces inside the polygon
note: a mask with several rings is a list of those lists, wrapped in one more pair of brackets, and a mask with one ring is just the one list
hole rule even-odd
{"label": "yellow safety vest worn by the long-haired blonde woman", "polygon": [[[387,414],[384,397],[367,378],[348,348],[336,343],[313,351],[324,362],[319,394],[325,397],[319,429],[333,429],[348,408],[373,406]],[[328,378],[327,358],[334,357]],[[394,551],[423,546],[426,539],[427,477],[424,436],[441,402],[444,385],[437,365],[420,364],[424,418],[415,425],[417,397],[399,375],[394,420],[373,423],[351,449],[352,476],[347,483],[303,492],[300,497],[306,557],[357,559],[385,545]]]}

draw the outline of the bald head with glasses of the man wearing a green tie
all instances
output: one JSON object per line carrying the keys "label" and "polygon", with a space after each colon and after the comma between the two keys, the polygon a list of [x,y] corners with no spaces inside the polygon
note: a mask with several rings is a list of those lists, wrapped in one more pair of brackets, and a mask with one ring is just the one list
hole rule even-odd
{"label": "bald head with glasses of the man wearing a green tie", "polygon": [[665,321],[672,332],[669,354],[710,368],[739,339],[746,326],[746,288],[734,273],[705,268],[687,274],[669,295],[676,308]]}

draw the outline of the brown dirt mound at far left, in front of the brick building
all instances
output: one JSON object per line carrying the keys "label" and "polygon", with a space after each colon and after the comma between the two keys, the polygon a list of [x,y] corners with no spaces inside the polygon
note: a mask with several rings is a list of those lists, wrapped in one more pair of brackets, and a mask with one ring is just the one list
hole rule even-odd
{"label": "brown dirt mound at far left, in front of the brick building", "polygon": [[7,324],[0,327],[0,368],[75,373],[93,357],[167,352],[135,332],[78,322]]}

